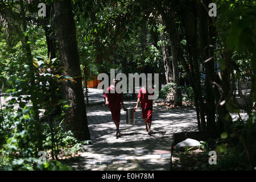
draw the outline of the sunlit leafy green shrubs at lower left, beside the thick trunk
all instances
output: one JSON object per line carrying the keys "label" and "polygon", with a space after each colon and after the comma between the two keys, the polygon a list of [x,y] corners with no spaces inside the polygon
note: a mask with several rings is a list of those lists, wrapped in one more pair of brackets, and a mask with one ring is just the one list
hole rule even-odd
{"label": "sunlit leafy green shrubs at lower left, beside the thick trunk", "polygon": [[[1,106],[1,140],[0,162],[3,169],[34,170],[39,151],[51,151],[52,159],[60,153],[60,147],[73,144],[77,151],[78,141],[71,133],[64,133],[61,121],[68,109],[67,102],[61,99],[60,76],[63,68],[57,68],[56,59],[37,57],[33,60],[35,87],[31,87],[30,70],[23,64],[22,77],[16,73],[10,75],[7,96],[11,100]],[[43,114],[36,117],[35,107],[31,105],[31,97]],[[43,122],[43,123],[42,123]],[[59,123],[59,124],[57,124]],[[76,143],[75,143],[76,142]],[[69,169],[60,162],[48,162],[46,169]],[[39,168],[42,169],[42,166]]]}

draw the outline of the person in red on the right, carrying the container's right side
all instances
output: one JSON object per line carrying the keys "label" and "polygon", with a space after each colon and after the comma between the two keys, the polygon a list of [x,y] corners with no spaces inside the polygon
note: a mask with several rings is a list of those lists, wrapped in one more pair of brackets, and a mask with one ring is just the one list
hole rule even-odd
{"label": "person in red on the right, carrying the container's right side", "polygon": [[[147,85],[146,85],[147,88]],[[153,112],[153,100],[148,99],[148,96],[154,95],[153,93],[148,93],[148,90],[144,87],[139,90],[137,105],[134,107],[136,111],[141,101],[141,109],[142,109],[142,118],[144,120],[146,129],[144,131],[148,132],[148,135],[151,134],[150,127],[152,122],[152,112]],[[148,125],[148,126],[147,126]]]}

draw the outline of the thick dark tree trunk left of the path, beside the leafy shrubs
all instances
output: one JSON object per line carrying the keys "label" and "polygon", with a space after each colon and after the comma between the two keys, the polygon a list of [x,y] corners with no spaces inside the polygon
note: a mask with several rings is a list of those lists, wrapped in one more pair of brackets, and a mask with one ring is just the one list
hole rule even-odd
{"label": "thick dark tree trunk left of the path, beside the leafy shrubs", "polygon": [[[80,61],[77,49],[76,29],[71,9],[71,1],[64,0],[54,3],[56,27],[59,39],[59,52],[61,63],[67,68],[65,76],[80,77]],[[64,98],[69,101],[69,110],[65,115],[65,130],[69,127],[80,140],[90,139],[84,94],[81,79],[76,79],[77,84],[64,83]]]}

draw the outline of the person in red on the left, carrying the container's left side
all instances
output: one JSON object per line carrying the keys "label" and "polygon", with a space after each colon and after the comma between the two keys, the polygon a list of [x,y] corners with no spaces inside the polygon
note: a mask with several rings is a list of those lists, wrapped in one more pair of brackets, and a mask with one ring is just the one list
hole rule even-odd
{"label": "person in red on the left, carrying the container's left side", "polygon": [[[119,123],[120,123],[120,115],[121,115],[121,104],[123,106],[123,110],[127,110],[125,107],[125,104],[123,104],[123,93],[117,93],[115,85],[117,84],[117,80],[113,79],[113,84],[111,84],[108,89],[106,90],[106,93],[104,94],[104,97],[106,98],[105,104],[108,105],[112,119],[115,123],[115,126],[117,127],[117,134],[116,137],[120,137],[121,133],[119,132]],[[120,88],[117,88],[120,89]],[[114,92],[112,93],[111,92]]]}

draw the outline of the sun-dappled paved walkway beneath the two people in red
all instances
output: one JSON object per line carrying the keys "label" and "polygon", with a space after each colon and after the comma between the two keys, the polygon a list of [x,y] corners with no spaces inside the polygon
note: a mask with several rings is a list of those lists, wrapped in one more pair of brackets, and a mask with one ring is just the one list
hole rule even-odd
{"label": "sun-dappled paved walkway beneath the two people in red", "polygon": [[[125,104],[134,107],[136,101],[126,101]],[[122,137],[118,139],[108,106],[87,106],[93,144],[85,146],[82,160],[72,163],[72,167],[76,170],[170,170],[172,135],[196,131],[196,111],[193,107],[167,110],[154,105],[152,135],[143,131],[145,126],[140,108],[135,113],[134,125],[126,125],[126,112],[121,110]]]}

